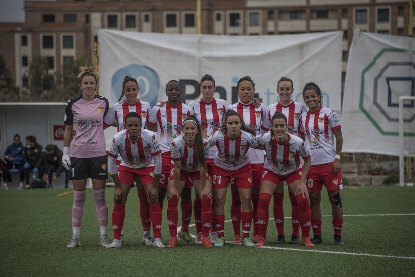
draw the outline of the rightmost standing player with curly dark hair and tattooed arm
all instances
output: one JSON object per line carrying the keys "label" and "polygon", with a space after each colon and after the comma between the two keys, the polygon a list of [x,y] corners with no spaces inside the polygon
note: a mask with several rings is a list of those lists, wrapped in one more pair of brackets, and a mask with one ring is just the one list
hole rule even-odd
{"label": "rightmost standing player with curly dark hair and tattooed arm", "polygon": [[[327,189],[332,204],[334,244],[343,245],[341,232],[343,226],[343,206],[340,189],[343,188],[340,172],[340,154],[342,153],[342,130],[336,112],[323,107],[323,96],[314,82],[306,83],[303,89],[304,102],[308,112],[300,116],[301,127],[305,133],[305,145],[311,156],[311,168],[307,175],[307,187],[310,192],[311,224],[314,238],[311,242],[322,243],[321,238],[321,190]],[[336,148],[334,140],[336,137]]]}

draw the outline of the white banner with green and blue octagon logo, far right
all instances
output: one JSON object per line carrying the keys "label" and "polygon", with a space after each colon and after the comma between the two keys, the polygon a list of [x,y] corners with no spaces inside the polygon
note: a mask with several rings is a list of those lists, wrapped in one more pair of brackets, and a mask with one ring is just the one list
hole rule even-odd
{"label": "white banner with green and blue octagon logo, far right", "polygon": [[[343,152],[399,155],[399,96],[414,96],[415,39],[354,32],[342,108]],[[414,101],[405,105],[405,157],[415,157]]]}

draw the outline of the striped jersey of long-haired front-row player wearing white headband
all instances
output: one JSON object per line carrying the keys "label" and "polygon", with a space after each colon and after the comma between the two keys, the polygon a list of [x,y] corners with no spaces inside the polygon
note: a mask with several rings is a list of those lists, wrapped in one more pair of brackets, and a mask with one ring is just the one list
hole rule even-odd
{"label": "striped jersey of long-haired front-row player wearing white headband", "polygon": [[[209,156],[209,142],[203,139],[203,148],[205,153],[205,159]],[[182,170],[188,172],[198,172],[200,171],[200,166],[198,162],[198,155],[196,154],[195,145],[189,146],[184,141],[184,134],[179,135],[171,142],[170,147],[170,157],[171,163],[174,164],[174,161],[180,161]]]}

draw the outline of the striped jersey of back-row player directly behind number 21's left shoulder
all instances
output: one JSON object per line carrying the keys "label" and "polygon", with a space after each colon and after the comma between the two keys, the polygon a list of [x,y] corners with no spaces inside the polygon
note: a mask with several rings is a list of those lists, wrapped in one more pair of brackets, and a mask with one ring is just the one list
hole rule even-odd
{"label": "striped jersey of back-row player directly behind number 21's left shoulder", "polygon": [[[251,102],[247,105],[242,102],[232,104],[230,106],[231,110],[239,113],[242,116],[245,124],[248,128],[255,130],[256,135],[259,135],[261,122],[265,118],[265,106],[261,103],[259,108],[255,108],[254,104]],[[252,164],[263,164],[264,163],[264,151],[259,149],[249,149],[249,157],[251,157]]]}

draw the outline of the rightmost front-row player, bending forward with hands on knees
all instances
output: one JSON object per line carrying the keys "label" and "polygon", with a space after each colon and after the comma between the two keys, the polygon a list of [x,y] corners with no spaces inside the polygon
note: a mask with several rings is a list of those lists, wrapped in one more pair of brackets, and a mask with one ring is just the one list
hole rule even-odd
{"label": "rightmost front-row player, bending forward with hands on knees", "polygon": [[[299,207],[299,221],[303,235],[303,245],[314,246],[310,242],[311,210],[308,203],[308,190],[305,184],[310,170],[311,159],[303,140],[287,133],[287,118],[282,113],[274,113],[271,119],[271,131],[258,137],[266,150],[264,170],[259,189],[257,210],[259,240],[255,246],[266,245],[266,228],[268,226],[269,202],[278,185],[287,181],[288,189],[295,195]],[[301,171],[301,158],[304,168]]]}

